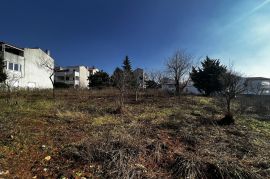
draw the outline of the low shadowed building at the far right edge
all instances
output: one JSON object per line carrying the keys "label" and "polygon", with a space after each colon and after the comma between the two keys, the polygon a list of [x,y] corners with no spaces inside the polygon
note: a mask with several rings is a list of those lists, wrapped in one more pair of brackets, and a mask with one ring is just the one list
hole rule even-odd
{"label": "low shadowed building at the far right edge", "polygon": [[245,78],[245,94],[270,95],[270,78],[248,77]]}

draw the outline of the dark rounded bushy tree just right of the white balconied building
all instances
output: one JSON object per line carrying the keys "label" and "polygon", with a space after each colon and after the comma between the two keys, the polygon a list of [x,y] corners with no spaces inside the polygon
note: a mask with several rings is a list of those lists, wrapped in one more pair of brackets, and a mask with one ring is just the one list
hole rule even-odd
{"label": "dark rounded bushy tree just right of the white balconied building", "polygon": [[99,71],[88,77],[89,87],[102,89],[110,86],[110,76],[104,71]]}

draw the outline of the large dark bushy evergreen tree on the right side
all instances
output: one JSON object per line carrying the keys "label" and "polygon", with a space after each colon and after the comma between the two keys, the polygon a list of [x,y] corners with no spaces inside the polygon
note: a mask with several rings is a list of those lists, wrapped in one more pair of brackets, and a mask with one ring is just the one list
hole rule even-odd
{"label": "large dark bushy evergreen tree on the right side", "polygon": [[226,73],[226,67],[221,65],[219,60],[210,59],[208,56],[201,62],[201,65],[202,68],[198,69],[192,67],[190,77],[194,86],[206,96],[221,91],[223,84],[220,78]]}

